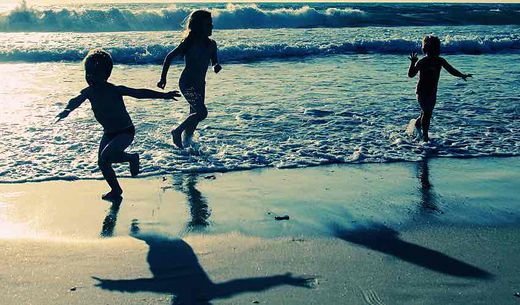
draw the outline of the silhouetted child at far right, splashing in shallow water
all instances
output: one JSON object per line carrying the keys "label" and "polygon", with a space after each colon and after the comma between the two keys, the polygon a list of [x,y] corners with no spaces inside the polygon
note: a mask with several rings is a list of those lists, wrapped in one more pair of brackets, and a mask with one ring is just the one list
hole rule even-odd
{"label": "silhouetted child at far right, splashing in shallow water", "polygon": [[436,36],[428,35],[424,37],[422,51],[426,56],[420,60],[417,58],[417,53],[411,53],[408,57],[410,59],[408,77],[414,77],[419,73],[416,94],[417,101],[421,106],[421,115],[415,120],[415,128],[422,131],[424,142],[428,142],[428,130],[433,108],[437,101],[437,86],[441,69],[446,69],[451,75],[460,77],[464,81],[472,75],[459,72],[446,59],[440,57],[441,41]]}

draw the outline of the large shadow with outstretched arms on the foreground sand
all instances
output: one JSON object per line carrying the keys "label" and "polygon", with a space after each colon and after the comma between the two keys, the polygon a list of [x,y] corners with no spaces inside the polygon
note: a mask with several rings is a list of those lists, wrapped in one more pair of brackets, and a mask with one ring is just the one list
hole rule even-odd
{"label": "large shadow with outstretched arms on the foreground sand", "polygon": [[245,292],[264,291],[290,285],[310,288],[310,279],[290,273],[234,279],[214,283],[199,264],[193,249],[182,239],[141,234],[139,228],[131,235],[149,246],[147,261],[153,277],[136,279],[101,279],[96,286],[120,292],[155,292],[172,295],[171,304],[211,304],[211,300],[229,298]]}

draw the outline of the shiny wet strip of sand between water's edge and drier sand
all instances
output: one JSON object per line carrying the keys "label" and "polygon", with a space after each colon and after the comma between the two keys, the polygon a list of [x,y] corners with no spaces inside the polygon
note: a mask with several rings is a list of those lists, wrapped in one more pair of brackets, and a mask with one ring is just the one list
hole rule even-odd
{"label": "shiny wet strip of sand between water's edge and drier sand", "polygon": [[[520,223],[520,201],[516,199],[520,190],[514,190],[514,181],[520,178],[514,171],[517,166],[520,158],[434,158],[122,178],[121,213],[119,207],[110,209],[111,204],[100,199],[107,188],[103,180],[0,184],[0,209],[4,215],[10,214],[0,216],[0,221],[22,227],[29,223],[29,231],[52,228],[84,237],[71,223],[60,221],[64,216],[78,217],[70,210],[71,203],[76,203],[87,218],[115,212],[124,217],[126,227],[137,219],[162,226],[173,235],[233,230],[255,235],[249,227],[258,227],[267,232],[259,236],[271,237],[277,234],[272,220],[285,215],[291,218],[285,222],[290,224],[288,233],[311,236],[330,236],[330,227],[345,220],[379,221],[396,228],[421,227],[423,222],[514,226]],[[64,189],[67,191],[60,194]],[[169,219],[168,213],[184,219],[184,226]],[[41,223],[35,225],[34,219]],[[89,228],[86,219],[78,221]],[[95,237],[92,232],[90,236]]]}

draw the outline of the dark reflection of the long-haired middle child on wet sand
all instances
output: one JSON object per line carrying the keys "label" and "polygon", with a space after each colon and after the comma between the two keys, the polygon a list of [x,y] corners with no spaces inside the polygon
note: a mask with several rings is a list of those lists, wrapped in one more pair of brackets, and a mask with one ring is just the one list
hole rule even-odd
{"label": "dark reflection of the long-haired middle child on wet sand", "polygon": [[202,231],[210,224],[211,209],[206,197],[196,187],[198,178],[197,174],[181,174],[173,178],[173,188],[184,193],[188,202],[191,218],[186,223],[187,232]]}

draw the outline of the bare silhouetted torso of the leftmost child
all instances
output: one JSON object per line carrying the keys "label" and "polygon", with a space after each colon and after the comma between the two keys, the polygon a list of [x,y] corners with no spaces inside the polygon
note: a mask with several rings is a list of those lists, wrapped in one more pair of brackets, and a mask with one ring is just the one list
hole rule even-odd
{"label": "bare silhouetted torso of the leftmost child", "polygon": [[81,95],[90,101],[94,117],[106,133],[115,133],[133,126],[117,86],[111,83],[89,86],[81,90]]}

